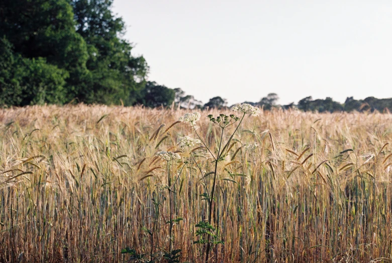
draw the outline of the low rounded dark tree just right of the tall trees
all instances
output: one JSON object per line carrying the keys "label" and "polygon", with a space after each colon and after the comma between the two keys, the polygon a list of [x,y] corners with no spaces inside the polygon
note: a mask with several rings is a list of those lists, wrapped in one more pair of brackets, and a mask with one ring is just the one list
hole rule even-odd
{"label": "low rounded dark tree just right of the tall trees", "polygon": [[174,102],[174,98],[175,91],[173,89],[169,89],[164,85],[158,85],[154,81],[148,81],[138,103],[150,108],[167,107]]}

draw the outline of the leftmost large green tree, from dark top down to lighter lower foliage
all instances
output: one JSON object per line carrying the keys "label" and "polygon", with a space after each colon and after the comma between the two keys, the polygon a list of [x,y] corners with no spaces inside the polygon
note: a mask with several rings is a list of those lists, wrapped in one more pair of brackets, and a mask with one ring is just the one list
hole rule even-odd
{"label": "leftmost large green tree, from dark top down to lighter lower foliage", "polygon": [[67,80],[87,74],[87,46],[66,0],[0,3],[0,103],[64,103]]}

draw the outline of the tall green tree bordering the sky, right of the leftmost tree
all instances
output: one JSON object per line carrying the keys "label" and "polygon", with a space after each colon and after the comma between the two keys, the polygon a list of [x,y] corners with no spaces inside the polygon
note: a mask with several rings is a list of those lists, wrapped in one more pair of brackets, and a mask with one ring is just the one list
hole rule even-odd
{"label": "tall green tree bordering the sky, right of the leftmost tree", "polygon": [[75,83],[70,97],[86,103],[133,105],[145,86],[148,66],[131,54],[132,45],[121,39],[125,23],[111,11],[112,0],[68,0],[73,7],[76,32],[87,43],[85,82]]}

